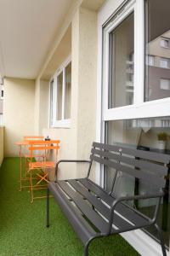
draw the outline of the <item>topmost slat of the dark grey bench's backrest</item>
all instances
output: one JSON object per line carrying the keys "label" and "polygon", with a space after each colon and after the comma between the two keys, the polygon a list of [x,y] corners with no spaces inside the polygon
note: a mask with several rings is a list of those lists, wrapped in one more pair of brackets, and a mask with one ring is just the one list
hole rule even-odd
{"label": "topmost slat of the dark grey bench's backrest", "polygon": [[[143,158],[146,160],[158,161],[163,164],[168,164],[170,162],[169,154],[160,154],[156,152],[144,151],[140,149],[125,148],[117,145],[108,145],[104,143],[93,143],[94,148],[103,148],[109,151],[121,152],[122,154],[131,154],[135,157]],[[121,151],[120,151],[121,150]]]}

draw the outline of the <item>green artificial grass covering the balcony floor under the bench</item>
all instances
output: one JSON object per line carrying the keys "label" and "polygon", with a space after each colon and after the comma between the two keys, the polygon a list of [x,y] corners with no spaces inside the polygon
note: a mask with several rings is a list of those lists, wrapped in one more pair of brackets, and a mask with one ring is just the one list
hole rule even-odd
{"label": "green artificial grass covering the balcony floor under the bench", "polygon": [[[54,198],[50,198],[50,227],[47,229],[46,200],[31,204],[30,193],[20,189],[20,159],[6,158],[0,168],[0,255],[78,256],[82,242]],[[94,240],[89,255],[139,255],[121,236]]]}

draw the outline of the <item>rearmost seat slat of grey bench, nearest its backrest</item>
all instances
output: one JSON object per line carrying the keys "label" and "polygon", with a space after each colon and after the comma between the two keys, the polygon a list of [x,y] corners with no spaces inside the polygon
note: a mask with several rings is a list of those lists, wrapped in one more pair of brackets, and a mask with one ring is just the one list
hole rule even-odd
{"label": "rearmost seat slat of grey bench, nearest its backrest", "polygon": [[[109,206],[111,206],[111,204],[115,200],[115,198],[113,198],[111,195],[108,195],[105,190],[99,189],[99,187],[96,187],[94,183],[91,183],[86,178],[78,179],[78,181],[82,183],[86,188],[93,191],[95,195],[99,196],[99,198],[105,201]],[[130,209],[130,207],[127,207],[125,204],[117,204],[116,211],[135,225],[142,225],[144,223],[148,223],[145,218],[139,216],[137,212],[134,212],[132,209]]]}

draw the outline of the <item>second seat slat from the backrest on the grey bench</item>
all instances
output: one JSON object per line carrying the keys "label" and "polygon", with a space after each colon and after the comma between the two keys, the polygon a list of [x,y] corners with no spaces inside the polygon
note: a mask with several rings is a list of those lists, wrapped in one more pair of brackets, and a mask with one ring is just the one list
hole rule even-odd
{"label": "second seat slat from the backrest on the grey bench", "polygon": [[[102,203],[102,201],[99,201],[99,199],[96,196],[88,192],[88,190],[82,187],[79,183],[77,183],[76,180],[68,180],[68,182],[74,189],[81,193],[103,216],[105,216],[105,218],[110,218],[110,209],[106,207]],[[119,217],[116,213],[114,216],[113,224],[115,224],[116,227],[121,230],[129,230],[133,227],[133,224],[129,224],[126,220]]]}

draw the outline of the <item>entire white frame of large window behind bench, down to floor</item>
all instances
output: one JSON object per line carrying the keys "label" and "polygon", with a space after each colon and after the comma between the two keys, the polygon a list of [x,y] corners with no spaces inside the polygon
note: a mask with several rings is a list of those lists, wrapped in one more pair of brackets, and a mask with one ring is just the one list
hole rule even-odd
{"label": "entire white frame of large window behind bench, down to floor", "polygon": [[[125,9],[119,14],[124,3]],[[118,25],[134,10],[134,103],[130,106],[108,109],[108,74],[109,67],[103,67],[103,50],[106,43],[106,55],[108,55],[108,35],[103,32],[103,26],[118,13],[114,22]],[[122,17],[124,17],[122,19]],[[114,27],[108,27],[108,32]],[[116,25],[116,26],[117,26]],[[115,27],[116,27],[115,26]],[[110,30],[111,28],[111,30]],[[98,14],[98,90],[97,90],[97,129],[96,141],[105,141],[105,121],[119,119],[143,119],[163,117],[170,115],[170,97],[144,102],[144,0],[108,0]],[[138,61],[140,60],[140,61]],[[105,73],[103,74],[103,69]],[[99,170],[101,172],[99,172]],[[97,183],[104,183],[104,172],[100,166],[96,166]],[[141,254],[161,256],[161,246],[142,230],[134,230],[122,234],[122,236]],[[168,253],[168,252],[167,252]]]}

